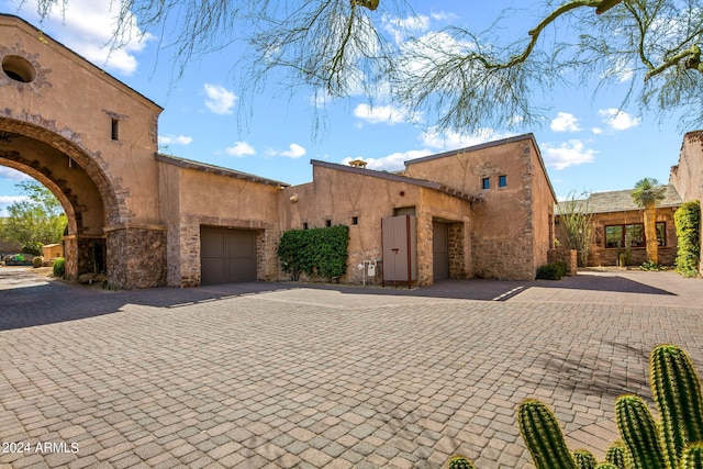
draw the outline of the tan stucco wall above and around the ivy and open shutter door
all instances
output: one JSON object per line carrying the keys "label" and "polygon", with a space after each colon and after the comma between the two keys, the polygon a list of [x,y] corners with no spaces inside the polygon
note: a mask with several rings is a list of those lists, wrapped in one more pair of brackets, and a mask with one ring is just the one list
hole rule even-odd
{"label": "tan stucco wall above and around the ivy and open shutter door", "polygon": [[[420,284],[433,282],[433,217],[466,223],[469,220],[469,202],[458,198],[410,181],[384,179],[376,171],[350,172],[320,166],[313,166],[313,182],[281,191],[280,206],[282,230],[301,230],[303,223],[309,228],[323,227],[327,220],[333,225],[349,226],[347,275],[341,279],[344,282],[361,282],[364,272],[357,266],[382,258],[381,220],[393,216],[394,209],[415,208]],[[358,216],[356,225],[352,223],[354,216]],[[366,281],[380,282],[380,272]]]}

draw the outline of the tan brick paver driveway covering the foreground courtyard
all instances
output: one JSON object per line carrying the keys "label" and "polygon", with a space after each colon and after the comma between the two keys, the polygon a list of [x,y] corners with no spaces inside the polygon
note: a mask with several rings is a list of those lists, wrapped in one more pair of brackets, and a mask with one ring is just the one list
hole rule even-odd
{"label": "tan brick paver driveway covering the foreground courtyard", "polygon": [[602,457],[652,346],[703,371],[703,281],[671,272],[119,292],[10,272],[0,467],[526,468],[521,400]]}

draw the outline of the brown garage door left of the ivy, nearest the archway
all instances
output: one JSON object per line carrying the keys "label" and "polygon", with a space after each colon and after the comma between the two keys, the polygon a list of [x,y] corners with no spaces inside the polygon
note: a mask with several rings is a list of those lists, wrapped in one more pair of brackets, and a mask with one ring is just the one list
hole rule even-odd
{"label": "brown garage door left of the ivy, nearest the archway", "polygon": [[256,232],[200,227],[202,284],[256,281]]}

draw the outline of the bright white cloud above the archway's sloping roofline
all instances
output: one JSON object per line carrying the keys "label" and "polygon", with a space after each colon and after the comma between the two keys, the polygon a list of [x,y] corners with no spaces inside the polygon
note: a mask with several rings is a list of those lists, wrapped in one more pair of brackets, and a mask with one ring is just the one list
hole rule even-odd
{"label": "bright white cloud above the archway's sloping roofline", "polygon": [[[22,5],[23,13],[36,18],[36,0],[25,2]],[[120,8],[121,1],[57,2],[42,27],[97,66],[129,76],[137,69],[136,54],[154,36],[143,33],[137,26],[136,18],[131,15],[123,21],[126,27],[120,34],[121,43],[115,47],[111,46]]]}

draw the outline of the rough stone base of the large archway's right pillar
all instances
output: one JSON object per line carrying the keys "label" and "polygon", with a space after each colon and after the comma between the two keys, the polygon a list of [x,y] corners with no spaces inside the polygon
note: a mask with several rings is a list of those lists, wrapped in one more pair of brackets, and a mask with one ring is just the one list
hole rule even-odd
{"label": "rough stone base of the large archway's right pillar", "polygon": [[107,236],[111,284],[127,290],[166,284],[166,230],[125,226]]}

